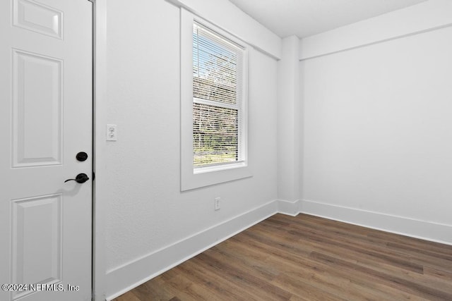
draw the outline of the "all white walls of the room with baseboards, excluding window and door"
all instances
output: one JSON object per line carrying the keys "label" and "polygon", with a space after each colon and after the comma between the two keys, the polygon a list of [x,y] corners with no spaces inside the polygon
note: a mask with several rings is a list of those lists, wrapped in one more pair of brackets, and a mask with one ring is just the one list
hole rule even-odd
{"label": "all white walls of the room with baseboards, excluding window and door", "polygon": [[[415,9],[412,16],[401,10],[400,19],[390,19],[420,18],[428,26],[410,23],[410,30],[394,37],[384,27],[388,16],[381,16],[363,25],[373,42],[350,25],[300,44],[292,37],[282,43],[229,1],[215,5],[237,18],[211,13],[218,7],[209,0],[171,1],[177,5],[96,4],[102,17],[97,18],[95,181],[100,300],[277,211],[304,211],[452,243],[450,18],[435,23],[435,13]],[[450,4],[428,2],[442,5],[429,6],[430,12],[447,11]],[[193,6],[191,11],[242,39],[252,37],[251,178],[180,192],[179,5]],[[382,28],[386,33],[380,35]],[[309,59],[316,56],[321,57]],[[304,59],[299,70],[287,63],[297,64],[297,57]],[[285,118],[283,112],[293,115]],[[105,123],[118,125],[117,142],[105,142]],[[283,143],[287,137],[290,148],[277,149],[278,139]],[[213,210],[215,197],[222,198],[220,211]],[[277,198],[283,200],[273,202]]]}

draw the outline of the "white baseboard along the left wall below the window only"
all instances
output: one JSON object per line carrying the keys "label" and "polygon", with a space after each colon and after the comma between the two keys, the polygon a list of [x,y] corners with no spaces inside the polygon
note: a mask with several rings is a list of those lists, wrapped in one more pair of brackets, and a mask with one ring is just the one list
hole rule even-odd
{"label": "white baseboard along the left wall below the window only", "polygon": [[268,202],[229,221],[107,271],[107,300],[112,300],[132,288],[136,288],[277,212],[278,201]]}

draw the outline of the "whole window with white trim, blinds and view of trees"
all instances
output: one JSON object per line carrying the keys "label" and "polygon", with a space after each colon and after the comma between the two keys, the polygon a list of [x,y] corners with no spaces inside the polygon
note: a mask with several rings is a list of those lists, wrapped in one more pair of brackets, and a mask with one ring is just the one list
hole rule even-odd
{"label": "whole window with white trim, blinds and view of trees", "polygon": [[181,13],[181,190],[251,176],[246,44]]}

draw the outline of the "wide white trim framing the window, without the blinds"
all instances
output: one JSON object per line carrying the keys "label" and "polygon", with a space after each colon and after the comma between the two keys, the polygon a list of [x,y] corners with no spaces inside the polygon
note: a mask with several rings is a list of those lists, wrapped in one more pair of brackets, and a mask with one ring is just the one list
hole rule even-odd
{"label": "wide white trim framing the window, without the blinds", "polygon": [[[209,23],[193,13],[181,8],[181,190],[191,190],[201,188],[209,185],[225,183],[232,180],[239,180],[241,178],[248,178],[251,176],[251,168],[249,166],[249,158],[246,156],[246,161],[237,162],[234,164],[224,164],[216,166],[206,166],[194,168],[193,166],[193,24],[194,22],[201,23],[211,30],[218,32],[220,35],[232,40],[241,45],[245,49],[247,45],[241,40],[237,39],[221,30],[217,26]],[[244,81],[247,81],[247,58],[246,51],[244,54]],[[247,88],[244,85],[244,104],[242,105],[242,114],[244,114],[244,124],[242,131],[244,133],[245,141],[243,151],[247,154]]]}

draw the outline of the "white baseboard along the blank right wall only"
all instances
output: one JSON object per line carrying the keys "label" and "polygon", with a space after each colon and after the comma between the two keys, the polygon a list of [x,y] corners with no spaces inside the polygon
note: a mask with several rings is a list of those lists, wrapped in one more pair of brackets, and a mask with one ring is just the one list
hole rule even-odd
{"label": "white baseboard along the blank right wall only", "polygon": [[299,208],[299,212],[304,214],[452,245],[452,225],[420,221],[403,216],[381,214],[306,199],[300,202]]}

